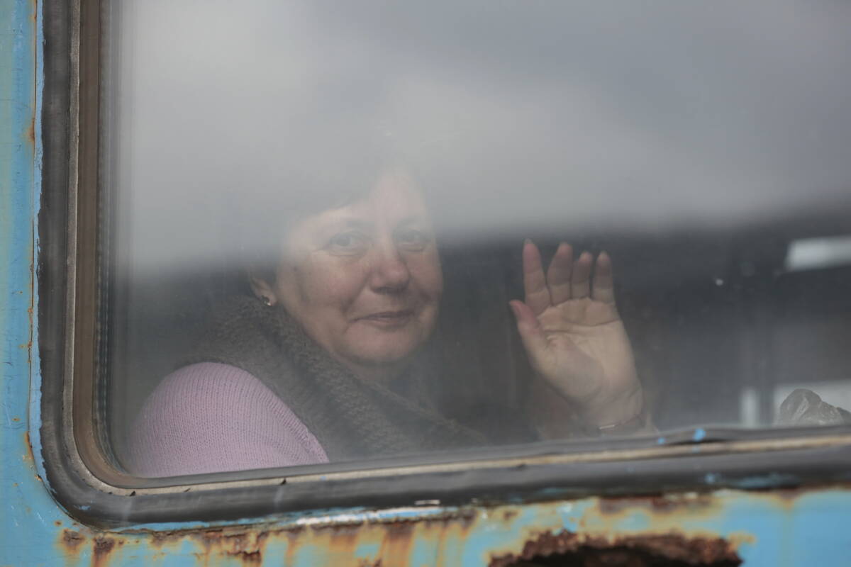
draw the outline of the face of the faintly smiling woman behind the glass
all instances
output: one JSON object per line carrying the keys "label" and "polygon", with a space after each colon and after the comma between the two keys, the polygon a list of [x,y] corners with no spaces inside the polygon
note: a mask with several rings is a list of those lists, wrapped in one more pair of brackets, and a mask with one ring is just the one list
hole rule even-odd
{"label": "face of the faintly smiling woman behind the glass", "polygon": [[335,359],[380,376],[398,371],[426,342],[442,291],[420,192],[408,176],[388,172],[363,200],[296,224],[264,294]]}

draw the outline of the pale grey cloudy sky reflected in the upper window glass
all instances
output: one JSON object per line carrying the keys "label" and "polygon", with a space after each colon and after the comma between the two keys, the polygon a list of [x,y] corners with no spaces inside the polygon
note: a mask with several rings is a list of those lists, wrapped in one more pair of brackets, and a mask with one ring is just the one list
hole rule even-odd
{"label": "pale grey cloudy sky reflected in the upper window glass", "polygon": [[220,253],[244,202],[368,184],[386,156],[452,235],[851,195],[844,0],[146,0],[112,21],[111,179],[142,262]]}

